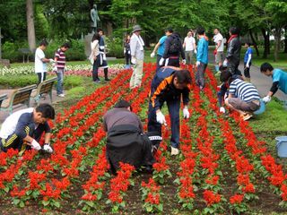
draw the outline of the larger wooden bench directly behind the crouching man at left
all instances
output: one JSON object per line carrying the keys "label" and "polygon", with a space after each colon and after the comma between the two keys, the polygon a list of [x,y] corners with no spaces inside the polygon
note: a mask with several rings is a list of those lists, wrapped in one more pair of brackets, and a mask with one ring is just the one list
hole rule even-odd
{"label": "larger wooden bench directly behind the crouching man at left", "polygon": [[13,112],[13,107],[16,105],[26,105],[27,107],[30,107],[30,93],[33,89],[37,87],[36,84],[20,88],[17,90],[13,90],[12,95],[8,99],[4,99],[0,110],[9,111],[9,114],[11,115]]}

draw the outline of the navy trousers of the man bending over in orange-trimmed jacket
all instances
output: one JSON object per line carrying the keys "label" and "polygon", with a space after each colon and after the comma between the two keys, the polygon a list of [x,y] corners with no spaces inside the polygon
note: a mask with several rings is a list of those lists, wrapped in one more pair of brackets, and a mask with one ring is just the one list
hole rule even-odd
{"label": "navy trousers of the man bending over in orange-trimmed jacket", "polygon": [[[162,107],[163,103],[161,104]],[[180,97],[167,100],[167,105],[170,113],[170,124],[171,124],[171,138],[170,144],[174,148],[179,146],[179,108],[180,108]],[[157,132],[161,135],[161,124],[156,121],[156,110],[152,107],[152,103],[149,103],[149,114],[148,114],[148,132]]]}

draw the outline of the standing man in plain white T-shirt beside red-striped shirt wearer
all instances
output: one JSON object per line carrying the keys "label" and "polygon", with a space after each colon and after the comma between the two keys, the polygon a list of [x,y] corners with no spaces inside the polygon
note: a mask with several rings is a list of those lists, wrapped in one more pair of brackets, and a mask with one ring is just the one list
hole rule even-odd
{"label": "standing man in plain white T-shirt beside red-striped shirt wearer", "polygon": [[44,51],[48,47],[48,42],[43,40],[40,42],[39,47],[35,52],[35,73],[38,74],[38,83],[44,82],[47,75],[47,63],[53,63],[53,59],[46,58]]}

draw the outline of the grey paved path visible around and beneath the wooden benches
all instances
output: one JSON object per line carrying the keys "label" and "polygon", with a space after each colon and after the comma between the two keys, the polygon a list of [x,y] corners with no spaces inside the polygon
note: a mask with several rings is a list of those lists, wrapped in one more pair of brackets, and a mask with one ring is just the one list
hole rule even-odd
{"label": "grey paved path visible around and beneath the wooden benches", "polygon": [[[8,95],[8,98],[10,97],[10,95],[13,93],[13,90],[0,90],[0,95],[3,95],[3,94],[7,94]],[[57,91],[56,90],[53,90],[52,91],[52,99],[53,99],[53,103],[56,103],[60,100],[63,100],[64,98],[61,98],[61,97],[58,97],[57,96]],[[41,99],[39,101],[39,103],[51,103],[51,100],[50,100],[50,97],[48,95],[45,95],[45,100],[44,99]],[[34,102],[33,99],[30,99],[30,107],[35,107],[36,106],[36,103]],[[27,106],[16,106],[13,108],[13,112],[17,111],[17,110],[20,110],[20,109],[24,109],[24,108],[27,108]],[[9,112],[8,111],[0,111],[0,125],[4,122],[4,119],[9,116]]]}

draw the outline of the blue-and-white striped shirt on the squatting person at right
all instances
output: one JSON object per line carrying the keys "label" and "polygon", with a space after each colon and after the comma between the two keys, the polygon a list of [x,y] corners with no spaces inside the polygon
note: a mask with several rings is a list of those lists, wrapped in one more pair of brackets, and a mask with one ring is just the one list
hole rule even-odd
{"label": "blue-and-white striped shirt on the squatting person at right", "polygon": [[252,83],[244,82],[239,79],[236,79],[230,83],[229,93],[245,102],[260,99],[258,90]]}

